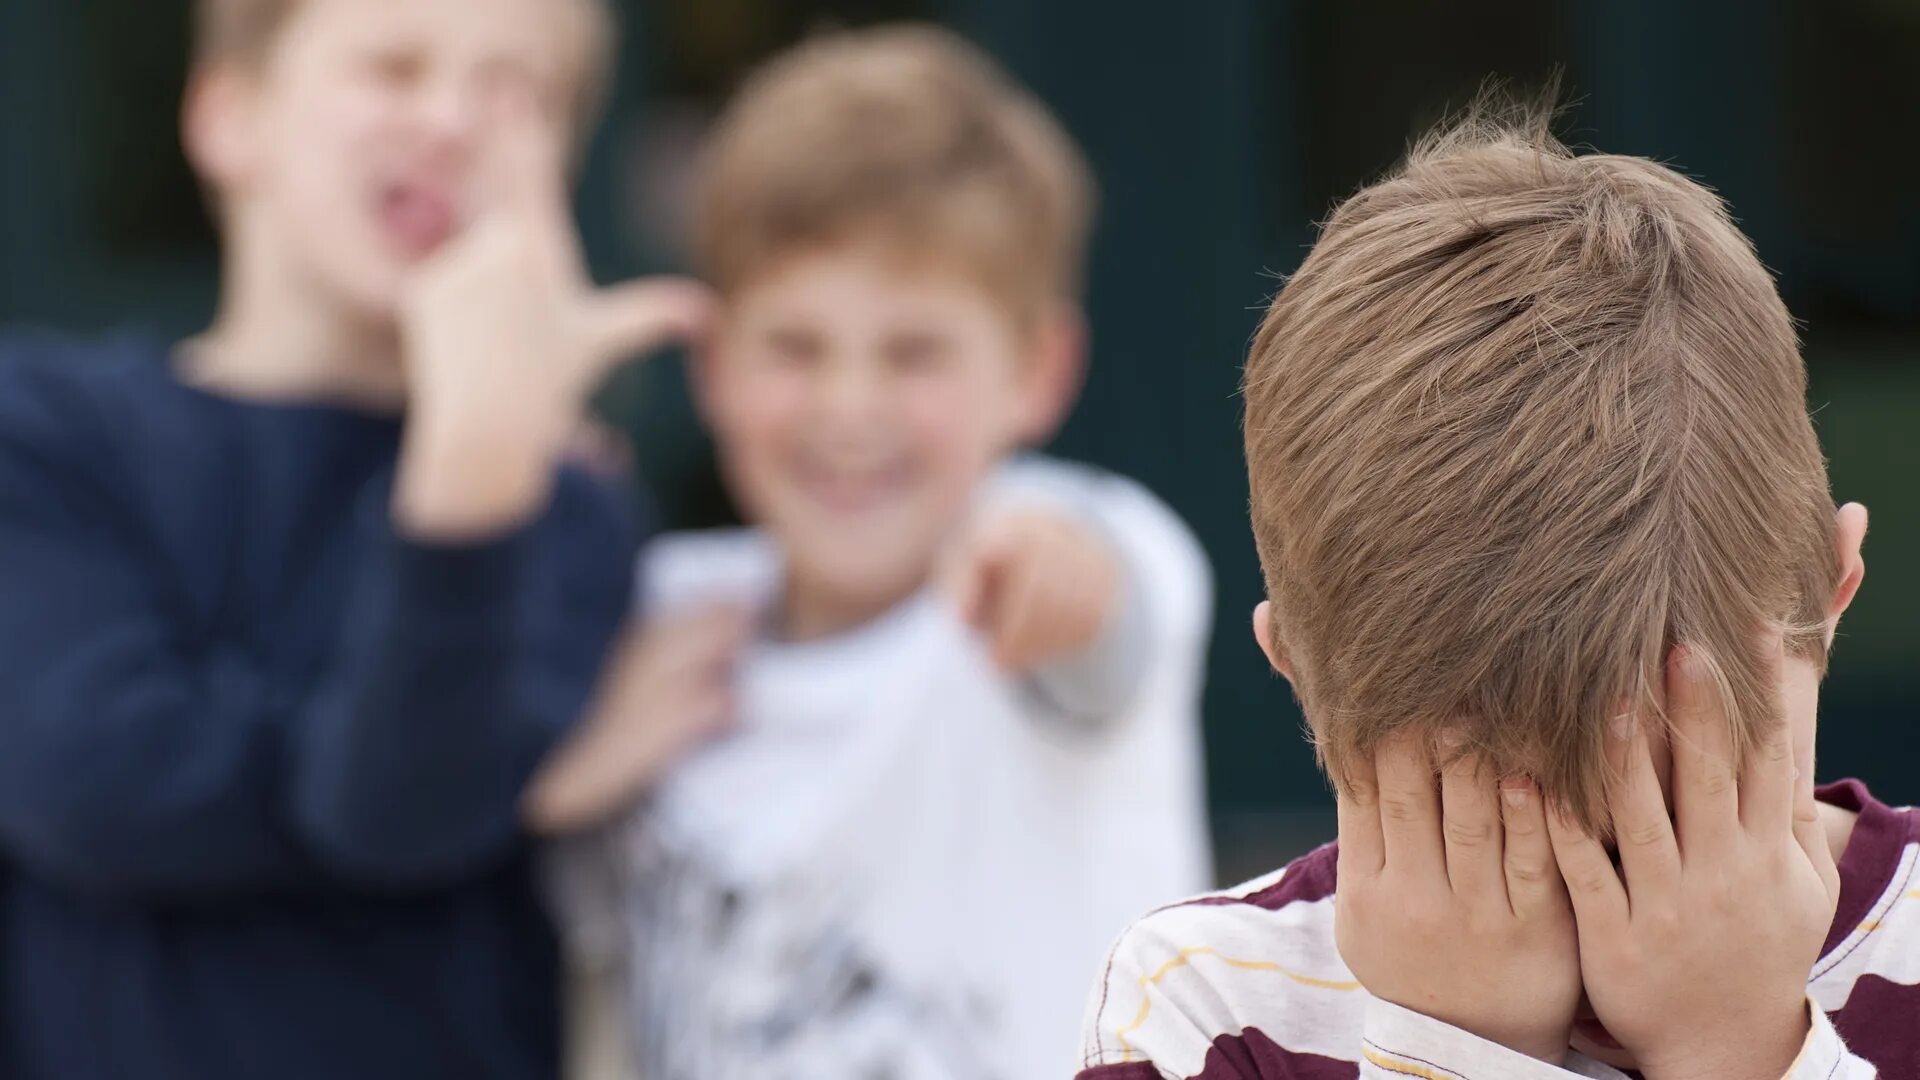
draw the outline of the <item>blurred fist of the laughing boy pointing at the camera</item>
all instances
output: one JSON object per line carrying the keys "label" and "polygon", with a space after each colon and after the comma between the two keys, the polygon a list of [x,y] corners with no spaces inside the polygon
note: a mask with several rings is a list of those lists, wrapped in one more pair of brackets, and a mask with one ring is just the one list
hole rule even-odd
{"label": "blurred fist of the laughing boy pointing at the camera", "polygon": [[960,619],[987,636],[1006,671],[1033,671],[1091,648],[1119,603],[1112,548],[1044,509],[991,513],[950,555]]}

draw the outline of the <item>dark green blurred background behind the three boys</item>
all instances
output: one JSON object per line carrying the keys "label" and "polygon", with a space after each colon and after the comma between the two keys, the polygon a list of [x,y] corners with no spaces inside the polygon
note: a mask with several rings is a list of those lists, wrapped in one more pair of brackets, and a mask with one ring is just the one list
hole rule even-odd
{"label": "dark green blurred background behind the three boys", "polygon": [[[403,2],[403,0],[396,0]],[[1331,202],[1488,75],[1565,75],[1565,138],[1649,154],[1732,202],[1805,321],[1841,498],[1874,511],[1868,582],[1826,692],[1822,776],[1897,801],[1920,769],[1920,0],[630,0],[589,158],[601,275],[676,265],[699,125],[820,25],[918,15],[983,42],[1083,140],[1104,186],[1094,365],[1056,450],[1139,477],[1213,555],[1206,721],[1223,874],[1331,834],[1284,684],[1246,615],[1235,379]],[[175,142],[182,0],[0,0],[0,323],[184,332],[213,238]],[[831,154],[831,148],[822,148]],[[678,365],[628,373],[630,425],[672,525],[728,519]]]}

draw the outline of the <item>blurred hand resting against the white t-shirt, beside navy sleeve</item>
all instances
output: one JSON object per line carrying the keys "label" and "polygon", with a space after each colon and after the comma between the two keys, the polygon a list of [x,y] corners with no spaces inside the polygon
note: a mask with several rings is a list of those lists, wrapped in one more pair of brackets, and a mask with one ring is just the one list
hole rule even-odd
{"label": "blurred hand resting against the white t-shirt, beside navy sleeve", "polygon": [[626,809],[733,719],[733,661],[751,621],[735,607],[670,615],[614,648],[601,690],[522,799],[534,832],[589,828]]}

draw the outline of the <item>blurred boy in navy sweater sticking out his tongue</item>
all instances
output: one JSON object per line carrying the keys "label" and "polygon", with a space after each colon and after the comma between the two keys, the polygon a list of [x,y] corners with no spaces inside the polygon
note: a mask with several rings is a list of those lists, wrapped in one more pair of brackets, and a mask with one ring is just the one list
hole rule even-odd
{"label": "blurred boy in navy sweater sticking out his tongue", "polygon": [[632,567],[563,454],[705,298],[574,250],[595,0],[202,15],[215,325],[0,340],[0,1074],[551,1076],[526,790]]}

